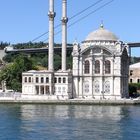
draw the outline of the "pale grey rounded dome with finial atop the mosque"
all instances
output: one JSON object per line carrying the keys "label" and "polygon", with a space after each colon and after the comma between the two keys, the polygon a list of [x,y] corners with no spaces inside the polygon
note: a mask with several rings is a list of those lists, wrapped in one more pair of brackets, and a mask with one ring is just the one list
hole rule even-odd
{"label": "pale grey rounded dome with finial atop the mosque", "polygon": [[101,25],[100,28],[96,31],[91,32],[85,41],[117,41],[118,37],[112,32],[104,29],[104,26]]}

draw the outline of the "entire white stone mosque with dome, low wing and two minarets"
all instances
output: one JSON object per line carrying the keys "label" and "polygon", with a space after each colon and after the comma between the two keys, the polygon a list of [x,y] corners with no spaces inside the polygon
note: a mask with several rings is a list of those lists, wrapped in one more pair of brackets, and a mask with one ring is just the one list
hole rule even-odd
{"label": "entire white stone mosque with dome, low wing and two minarets", "polygon": [[54,0],[49,0],[48,16],[48,70],[23,72],[22,96],[98,100],[127,98],[128,45],[101,25],[81,44],[73,44],[73,67],[67,70],[67,1],[62,0],[62,68],[54,71]]}

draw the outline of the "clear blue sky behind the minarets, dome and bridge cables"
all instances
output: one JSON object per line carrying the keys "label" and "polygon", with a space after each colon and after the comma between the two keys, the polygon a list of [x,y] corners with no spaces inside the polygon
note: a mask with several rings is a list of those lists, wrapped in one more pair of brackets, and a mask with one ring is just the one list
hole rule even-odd
{"label": "clear blue sky behind the minarets, dome and bridge cables", "polygon": [[[61,20],[61,2],[55,1],[55,26]],[[98,0],[67,0],[68,17],[72,17]],[[110,0],[102,0],[88,9],[68,25],[95,11]],[[0,0],[0,41],[11,44],[29,42],[48,31],[49,0]],[[99,28],[101,21],[104,27],[124,42],[140,42],[140,0],[113,0],[107,6],[68,28],[68,43],[84,41],[86,36]],[[55,33],[61,30],[61,26]],[[48,34],[35,40],[44,41]],[[55,42],[61,43],[61,33],[55,36]],[[140,49],[132,50],[133,56],[140,56]]]}

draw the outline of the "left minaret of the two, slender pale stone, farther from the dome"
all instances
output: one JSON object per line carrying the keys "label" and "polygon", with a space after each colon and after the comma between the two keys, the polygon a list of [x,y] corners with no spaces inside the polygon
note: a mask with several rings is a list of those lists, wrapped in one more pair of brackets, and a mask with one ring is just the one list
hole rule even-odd
{"label": "left minaret of the two, slender pale stone, farther from the dome", "polygon": [[54,0],[49,0],[49,62],[48,62],[48,70],[54,71]]}

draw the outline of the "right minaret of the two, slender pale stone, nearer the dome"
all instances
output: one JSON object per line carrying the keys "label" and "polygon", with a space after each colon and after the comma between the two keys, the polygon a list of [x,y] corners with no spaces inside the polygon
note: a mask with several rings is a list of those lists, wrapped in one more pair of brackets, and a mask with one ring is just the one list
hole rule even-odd
{"label": "right minaret of the two, slender pale stone, nearer the dome", "polygon": [[67,0],[62,0],[62,71],[66,71],[66,48],[67,48]]}

